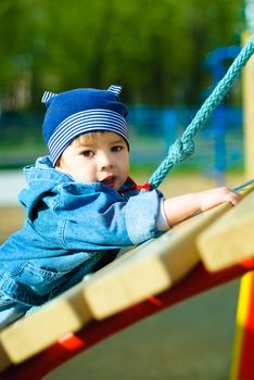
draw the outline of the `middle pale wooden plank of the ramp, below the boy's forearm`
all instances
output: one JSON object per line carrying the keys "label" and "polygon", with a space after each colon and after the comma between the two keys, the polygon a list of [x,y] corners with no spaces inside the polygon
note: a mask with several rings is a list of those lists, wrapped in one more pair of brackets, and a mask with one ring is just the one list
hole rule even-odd
{"label": "middle pale wooden plank of the ramp, below the boy's forearm", "polygon": [[120,262],[94,274],[84,288],[84,294],[96,319],[115,313],[157,294],[185,277],[200,261],[196,248],[198,235],[230,208],[221,204],[190,219],[179,229],[123,256]]}

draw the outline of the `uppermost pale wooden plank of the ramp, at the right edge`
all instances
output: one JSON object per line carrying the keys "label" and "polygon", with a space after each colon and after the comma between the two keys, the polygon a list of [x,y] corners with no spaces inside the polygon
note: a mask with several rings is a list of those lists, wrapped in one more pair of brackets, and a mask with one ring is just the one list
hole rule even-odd
{"label": "uppermost pale wooden plank of the ramp, at the right edge", "polygon": [[202,261],[212,271],[253,256],[254,192],[201,233],[198,246]]}

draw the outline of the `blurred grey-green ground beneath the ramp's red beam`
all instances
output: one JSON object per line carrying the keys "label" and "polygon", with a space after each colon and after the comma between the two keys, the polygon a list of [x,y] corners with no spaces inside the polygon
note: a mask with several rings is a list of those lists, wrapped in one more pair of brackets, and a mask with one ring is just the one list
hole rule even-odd
{"label": "blurred grey-green ground beneath the ramp's red beam", "polygon": [[156,314],[45,380],[228,380],[238,281]]}

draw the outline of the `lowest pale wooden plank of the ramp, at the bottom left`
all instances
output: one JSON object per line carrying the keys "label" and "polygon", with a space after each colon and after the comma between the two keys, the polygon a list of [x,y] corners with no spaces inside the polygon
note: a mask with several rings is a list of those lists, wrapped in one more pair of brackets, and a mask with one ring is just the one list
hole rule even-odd
{"label": "lowest pale wooden plank of the ramp, at the bottom left", "polygon": [[0,370],[36,355],[64,333],[78,331],[91,320],[81,288],[74,287],[0,332]]}

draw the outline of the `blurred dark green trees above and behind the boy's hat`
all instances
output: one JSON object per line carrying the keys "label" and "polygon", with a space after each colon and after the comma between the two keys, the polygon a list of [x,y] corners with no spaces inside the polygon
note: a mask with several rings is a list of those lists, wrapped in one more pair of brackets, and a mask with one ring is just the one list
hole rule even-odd
{"label": "blurred dark green trees above and behind the boy's hat", "polygon": [[194,103],[208,51],[239,43],[243,0],[0,2],[0,94],[125,87],[129,103]]}

